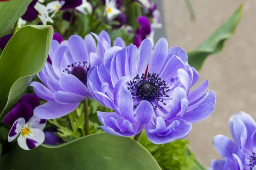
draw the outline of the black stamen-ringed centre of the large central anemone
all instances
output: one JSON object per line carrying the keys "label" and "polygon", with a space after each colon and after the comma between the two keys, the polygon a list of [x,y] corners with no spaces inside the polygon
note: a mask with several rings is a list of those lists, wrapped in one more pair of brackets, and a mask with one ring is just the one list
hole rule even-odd
{"label": "black stamen-ringed centre of the large central anemone", "polygon": [[[140,77],[137,75],[134,77],[133,81],[130,80],[128,83],[130,87],[128,90],[131,92],[134,102],[137,102],[134,105],[134,108],[137,107],[137,104],[140,100],[147,100],[154,104],[154,109],[157,110],[157,104],[162,102],[164,103],[164,98],[169,97],[166,92],[170,91],[166,86],[166,81],[158,77],[158,74],[142,74]],[[163,107],[160,107],[163,108]]]}

